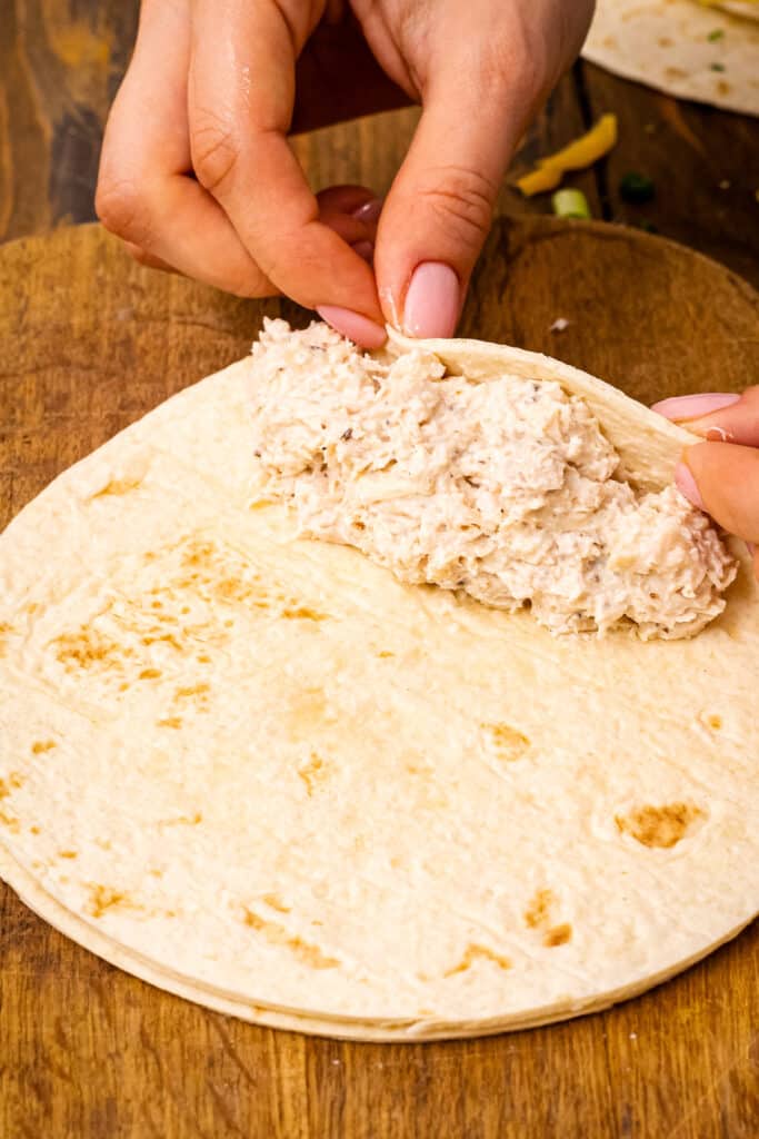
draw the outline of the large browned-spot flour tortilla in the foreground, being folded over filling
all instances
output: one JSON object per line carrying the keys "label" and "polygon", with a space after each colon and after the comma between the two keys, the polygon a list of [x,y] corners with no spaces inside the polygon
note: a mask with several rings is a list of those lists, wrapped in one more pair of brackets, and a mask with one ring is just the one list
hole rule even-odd
{"label": "large browned-spot flour tortilla in the foreground, being folded over filling", "polygon": [[[688,439],[556,361],[424,346],[596,401],[641,483]],[[591,1011],[736,934],[749,559],[692,641],[553,639],[401,585],[261,502],[248,377],[174,396],[0,539],[3,877],[160,988],[357,1039]]]}

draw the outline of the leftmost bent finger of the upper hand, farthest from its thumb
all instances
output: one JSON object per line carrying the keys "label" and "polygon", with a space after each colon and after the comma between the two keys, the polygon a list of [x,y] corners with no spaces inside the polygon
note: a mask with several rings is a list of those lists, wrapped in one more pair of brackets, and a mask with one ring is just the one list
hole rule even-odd
{"label": "leftmost bent finger of the upper hand, farthest from its thumb", "polygon": [[275,288],[218,203],[187,177],[189,59],[189,3],[147,0],[106,129],[98,215],[106,229],[139,246],[143,259],[242,296],[270,296]]}

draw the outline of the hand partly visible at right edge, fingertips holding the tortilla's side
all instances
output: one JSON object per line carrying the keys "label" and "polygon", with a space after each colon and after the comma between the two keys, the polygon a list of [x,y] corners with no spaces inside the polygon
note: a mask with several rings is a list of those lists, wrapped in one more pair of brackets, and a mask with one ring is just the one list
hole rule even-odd
{"label": "hand partly visible at right edge, fingertips holding the tortilla's side", "polygon": [[675,481],[694,506],[749,543],[759,579],[759,387],[662,400],[653,409],[708,441],[687,449]]}

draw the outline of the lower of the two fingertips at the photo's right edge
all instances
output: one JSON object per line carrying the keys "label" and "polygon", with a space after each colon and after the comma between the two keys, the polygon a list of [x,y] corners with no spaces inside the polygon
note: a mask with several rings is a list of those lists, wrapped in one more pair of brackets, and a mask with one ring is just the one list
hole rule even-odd
{"label": "lower of the two fingertips at the photo's right edge", "polygon": [[696,443],[676,472],[694,506],[731,534],[759,543],[759,450],[734,443]]}

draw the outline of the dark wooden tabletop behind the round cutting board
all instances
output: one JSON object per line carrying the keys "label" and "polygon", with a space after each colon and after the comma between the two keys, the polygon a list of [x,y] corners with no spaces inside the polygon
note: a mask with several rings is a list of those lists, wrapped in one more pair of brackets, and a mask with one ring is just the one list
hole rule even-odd
{"label": "dark wooden tabletop behind the round cutting board", "polygon": [[[138,0],[1,0],[0,241],[90,221],[102,129],[132,49]],[[517,156],[500,212],[550,213],[514,179],[535,159],[613,110],[610,158],[571,178],[594,216],[653,226],[759,285],[757,120],[679,103],[578,63]],[[360,182],[383,194],[419,112],[407,109],[300,136],[294,147],[314,189]],[[652,177],[655,199],[619,195],[627,171]]]}

